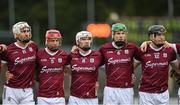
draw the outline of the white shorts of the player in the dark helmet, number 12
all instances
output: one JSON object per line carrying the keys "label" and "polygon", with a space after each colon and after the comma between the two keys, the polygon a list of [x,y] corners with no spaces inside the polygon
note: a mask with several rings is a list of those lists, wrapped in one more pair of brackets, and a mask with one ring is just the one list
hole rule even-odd
{"label": "white shorts of the player in the dark helmet, number 12", "polygon": [[169,91],[163,93],[139,92],[139,105],[169,105]]}

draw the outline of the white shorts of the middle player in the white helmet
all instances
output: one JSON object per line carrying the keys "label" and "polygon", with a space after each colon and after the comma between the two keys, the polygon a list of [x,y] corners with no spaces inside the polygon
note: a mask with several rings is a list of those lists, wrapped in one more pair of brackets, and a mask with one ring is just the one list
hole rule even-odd
{"label": "white shorts of the middle player in the white helmet", "polygon": [[98,105],[98,98],[69,97],[68,105]]}

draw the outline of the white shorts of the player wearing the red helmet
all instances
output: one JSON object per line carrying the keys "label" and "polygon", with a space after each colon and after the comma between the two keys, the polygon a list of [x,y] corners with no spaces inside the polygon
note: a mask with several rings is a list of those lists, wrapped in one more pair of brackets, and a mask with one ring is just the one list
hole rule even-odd
{"label": "white shorts of the player wearing the red helmet", "polygon": [[64,97],[46,98],[37,97],[37,105],[65,105]]}

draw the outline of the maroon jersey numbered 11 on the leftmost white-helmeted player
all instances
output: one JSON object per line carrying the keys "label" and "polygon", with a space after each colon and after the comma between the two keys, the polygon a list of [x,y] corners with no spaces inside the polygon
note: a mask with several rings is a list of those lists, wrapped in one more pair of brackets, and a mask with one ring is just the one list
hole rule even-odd
{"label": "maroon jersey numbered 11 on the leftmost white-helmeted player", "polygon": [[5,85],[13,88],[28,88],[34,84],[34,70],[36,52],[38,48],[34,43],[20,47],[15,43],[7,47],[3,56],[8,64],[8,71],[14,75]]}

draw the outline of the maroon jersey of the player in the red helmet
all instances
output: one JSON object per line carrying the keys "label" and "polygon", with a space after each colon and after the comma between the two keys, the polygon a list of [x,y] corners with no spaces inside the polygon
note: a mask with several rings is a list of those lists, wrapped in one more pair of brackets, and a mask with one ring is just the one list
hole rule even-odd
{"label": "maroon jersey of the player in the red helmet", "polygon": [[53,55],[47,48],[38,51],[39,97],[64,97],[64,66],[67,57],[63,50]]}

